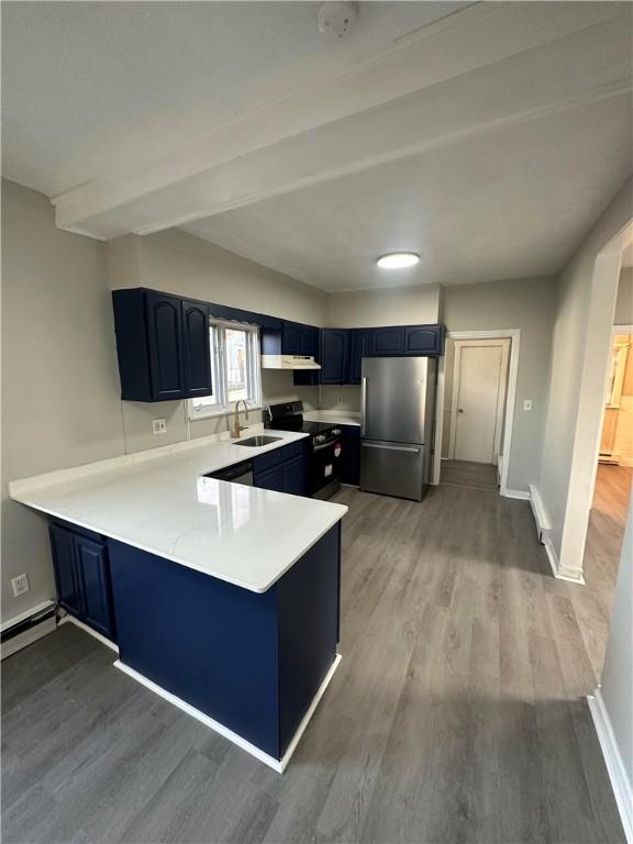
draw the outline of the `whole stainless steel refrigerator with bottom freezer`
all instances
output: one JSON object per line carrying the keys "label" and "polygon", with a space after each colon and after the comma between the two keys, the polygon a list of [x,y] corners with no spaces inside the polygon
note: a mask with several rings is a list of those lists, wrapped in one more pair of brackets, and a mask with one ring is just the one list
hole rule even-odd
{"label": "whole stainless steel refrigerator with bottom freezer", "polygon": [[437,360],[363,359],[360,489],[420,501],[431,479]]}

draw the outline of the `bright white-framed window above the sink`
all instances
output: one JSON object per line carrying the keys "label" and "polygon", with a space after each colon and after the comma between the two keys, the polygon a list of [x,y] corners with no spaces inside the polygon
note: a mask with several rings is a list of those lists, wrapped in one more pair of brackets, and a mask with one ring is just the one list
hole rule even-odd
{"label": "bright white-framed window above the sink", "polygon": [[249,408],[262,404],[259,340],[253,325],[213,322],[209,326],[213,395],[190,399],[189,419],[231,413],[244,399]]}

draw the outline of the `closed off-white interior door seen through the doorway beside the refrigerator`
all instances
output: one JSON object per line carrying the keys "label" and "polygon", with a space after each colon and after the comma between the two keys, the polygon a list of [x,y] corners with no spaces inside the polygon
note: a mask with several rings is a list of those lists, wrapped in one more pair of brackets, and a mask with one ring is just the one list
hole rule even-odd
{"label": "closed off-white interior door seen through the doorway beside the refrigerator", "polygon": [[456,349],[451,449],[454,459],[497,463],[507,360],[507,342],[465,342]]}

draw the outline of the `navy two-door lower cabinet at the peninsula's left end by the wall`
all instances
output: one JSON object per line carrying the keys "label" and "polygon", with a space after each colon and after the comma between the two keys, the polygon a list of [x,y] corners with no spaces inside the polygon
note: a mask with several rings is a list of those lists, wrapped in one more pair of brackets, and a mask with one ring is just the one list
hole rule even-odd
{"label": "navy two-door lower cabinet at the peninsula's left end by the wall", "polygon": [[58,523],[51,524],[49,532],[59,606],[115,642],[106,540]]}

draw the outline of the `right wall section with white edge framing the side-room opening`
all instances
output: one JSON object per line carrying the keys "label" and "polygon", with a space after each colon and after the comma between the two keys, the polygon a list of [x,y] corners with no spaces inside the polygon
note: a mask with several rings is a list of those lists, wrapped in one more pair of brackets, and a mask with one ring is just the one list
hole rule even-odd
{"label": "right wall section with white edge framing the side-room opening", "polygon": [[[609,204],[558,285],[549,396],[538,489],[560,573],[579,578],[595,477],[596,443],[617,296],[618,265],[598,254],[632,213],[630,180]],[[612,268],[612,266],[614,268]],[[612,278],[613,273],[615,277]],[[574,460],[574,454],[579,455]],[[576,477],[573,476],[573,470]]]}

